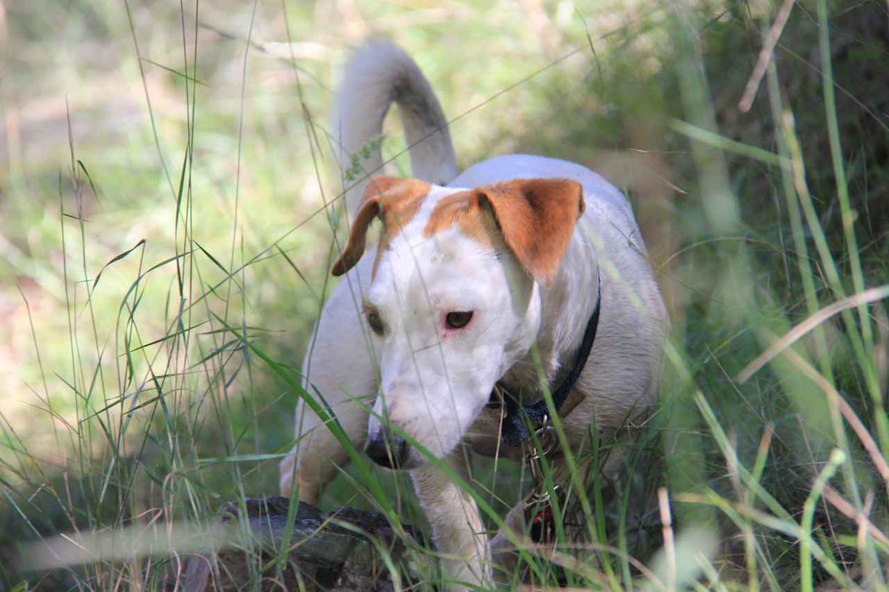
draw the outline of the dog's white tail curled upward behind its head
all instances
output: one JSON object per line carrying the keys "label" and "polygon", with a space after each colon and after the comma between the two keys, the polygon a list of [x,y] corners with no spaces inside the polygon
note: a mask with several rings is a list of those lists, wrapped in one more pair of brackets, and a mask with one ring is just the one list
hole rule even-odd
{"label": "dog's white tail curled upward behind its head", "polygon": [[380,133],[393,102],[400,108],[413,175],[436,185],[457,176],[447,120],[428,80],[399,47],[372,41],[348,60],[331,128],[350,213],[367,177],[382,172]]}

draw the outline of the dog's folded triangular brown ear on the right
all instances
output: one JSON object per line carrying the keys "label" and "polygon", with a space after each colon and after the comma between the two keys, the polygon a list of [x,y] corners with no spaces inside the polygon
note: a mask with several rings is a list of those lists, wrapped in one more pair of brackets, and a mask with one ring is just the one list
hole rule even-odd
{"label": "dog's folded triangular brown ear on the right", "polygon": [[568,179],[519,179],[477,191],[491,204],[507,246],[528,275],[551,284],[586,207],[581,184]]}

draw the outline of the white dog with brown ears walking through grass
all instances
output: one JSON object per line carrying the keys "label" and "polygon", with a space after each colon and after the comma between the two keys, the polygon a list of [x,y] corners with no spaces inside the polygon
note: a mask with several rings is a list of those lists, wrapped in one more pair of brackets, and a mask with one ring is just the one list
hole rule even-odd
{"label": "white dog with brown ears walking through grass", "polygon": [[[613,441],[655,403],[668,322],[621,192],[579,164],[541,156],[499,156],[458,175],[434,93],[391,44],[368,44],[348,64],[332,128],[343,170],[380,169],[379,149],[358,155],[368,156],[392,102],[417,178],[361,172],[365,181],[347,192],[351,233],[332,269],[346,277],[327,300],[303,372],[356,447],[411,471],[450,557],[452,589],[462,589],[491,581],[491,544],[475,500],[428,455],[458,473],[467,447],[521,459],[522,447],[510,444],[526,436],[522,408],[510,400],[502,413],[489,403],[495,385],[524,391],[523,404],[543,400],[541,376],[554,404],[559,391],[570,402],[558,410],[569,444],[589,442],[590,424],[600,442]],[[382,222],[380,241],[365,249],[373,220]],[[370,411],[357,400],[369,394]],[[296,431],[281,492],[295,485],[301,500],[316,502],[347,455],[303,403]],[[609,455],[605,476],[620,465]]]}

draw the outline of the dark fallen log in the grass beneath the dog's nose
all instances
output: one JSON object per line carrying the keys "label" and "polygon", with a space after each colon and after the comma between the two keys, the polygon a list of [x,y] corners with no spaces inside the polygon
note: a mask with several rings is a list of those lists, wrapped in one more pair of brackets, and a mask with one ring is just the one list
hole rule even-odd
{"label": "dark fallen log in the grass beneath the dog's nose", "polygon": [[191,556],[178,588],[228,592],[257,589],[260,582],[262,590],[387,592],[438,580],[435,561],[411,526],[393,528],[385,516],[371,510],[321,512],[301,501],[286,558],[276,560],[284,555],[289,510],[288,498],[248,498],[245,516],[239,519],[238,502],[224,504],[213,532],[222,532],[228,544]]}

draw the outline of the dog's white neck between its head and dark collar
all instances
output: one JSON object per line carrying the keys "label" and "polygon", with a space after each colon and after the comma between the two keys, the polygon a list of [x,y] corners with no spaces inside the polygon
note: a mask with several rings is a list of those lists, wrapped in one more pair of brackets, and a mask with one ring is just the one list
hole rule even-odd
{"label": "dog's white neck between its head and dark collar", "polygon": [[501,380],[513,392],[524,390],[529,394],[531,398],[525,404],[532,403],[540,391],[539,364],[550,387],[555,387],[569,372],[581,347],[583,332],[597,304],[598,262],[590,253],[595,255],[581,233],[575,232],[553,284],[540,286],[541,327],[537,340]]}

